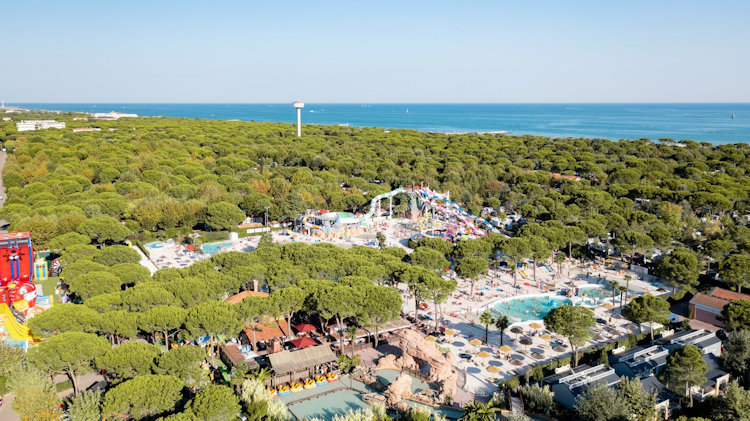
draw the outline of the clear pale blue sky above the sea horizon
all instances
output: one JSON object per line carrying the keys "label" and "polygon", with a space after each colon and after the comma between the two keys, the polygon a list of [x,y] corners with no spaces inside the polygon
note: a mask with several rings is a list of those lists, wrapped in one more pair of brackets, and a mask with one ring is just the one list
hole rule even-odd
{"label": "clear pale blue sky above the sea horizon", "polygon": [[9,1],[6,102],[748,102],[750,1]]}

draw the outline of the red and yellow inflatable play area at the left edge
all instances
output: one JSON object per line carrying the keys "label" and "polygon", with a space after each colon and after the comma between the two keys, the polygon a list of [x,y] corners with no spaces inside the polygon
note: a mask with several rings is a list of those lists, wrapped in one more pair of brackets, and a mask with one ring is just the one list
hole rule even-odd
{"label": "red and yellow inflatable play area at the left edge", "polygon": [[39,339],[31,335],[26,321],[50,308],[51,295],[38,294],[49,277],[44,258],[34,260],[31,233],[0,234],[0,340],[28,349]]}

